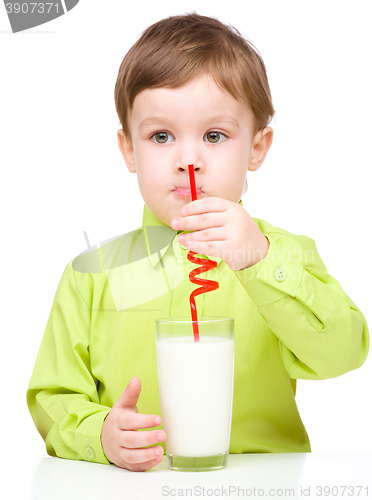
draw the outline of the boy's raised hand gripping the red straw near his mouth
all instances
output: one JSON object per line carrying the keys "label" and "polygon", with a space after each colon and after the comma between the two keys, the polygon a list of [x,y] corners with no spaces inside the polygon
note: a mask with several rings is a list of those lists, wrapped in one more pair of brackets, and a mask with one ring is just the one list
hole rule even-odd
{"label": "boy's raised hand gripping the red straw near his mouth", "polygon": [[267,255],[269,240],[238,203],[201,198],[185,205],[181,214],[171,225],[176,231],[194,231],[178,237],[193,252],[220,257],[233,271],[251,267]]}

